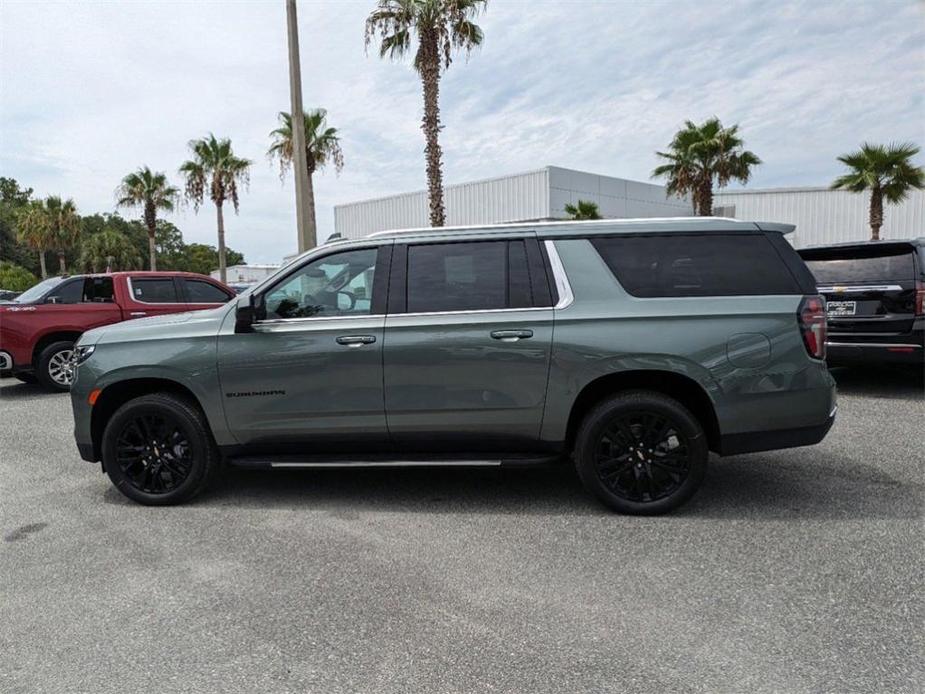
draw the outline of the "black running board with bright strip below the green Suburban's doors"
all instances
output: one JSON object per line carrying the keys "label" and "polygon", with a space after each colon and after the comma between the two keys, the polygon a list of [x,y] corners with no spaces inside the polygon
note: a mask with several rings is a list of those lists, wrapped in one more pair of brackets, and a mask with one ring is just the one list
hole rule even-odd
{"label": "black running board with bright strip below the green Suburban's doors", "polygon": [[534,467],[549,465],[561,460],[561,456],[518,456],[518,455],[461,455],[434,456],[403,455],[370,456],[360,455],[246,455],[228,458],[234,467],[248,469],[301,469],[301,468],[351,468],[351,467]]}

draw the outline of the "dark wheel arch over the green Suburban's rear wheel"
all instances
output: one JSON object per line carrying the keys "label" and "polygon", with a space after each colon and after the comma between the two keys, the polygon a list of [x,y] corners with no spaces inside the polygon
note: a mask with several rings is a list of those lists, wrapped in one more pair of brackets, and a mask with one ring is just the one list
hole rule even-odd
{"label": "dark wheel arch over the green Suburban's rear wheel", "polygon": [[602,399],[626,390],[650,390],[667,395],[690,410],[707,435],[711,451],[720,450],[720,428],[716,408],[704,387],[689,376],[672,371],[632,370],[606,374],[581,389],[569,413],[566,428],[567,450],[572,450],[578,427],[585,415]]}

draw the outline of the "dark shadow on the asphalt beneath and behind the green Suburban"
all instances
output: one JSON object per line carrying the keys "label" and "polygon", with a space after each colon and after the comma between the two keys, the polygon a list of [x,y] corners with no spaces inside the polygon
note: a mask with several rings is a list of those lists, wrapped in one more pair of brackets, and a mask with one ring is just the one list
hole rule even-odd
{"label": "dark shadow on the asphalt beneath and behind the green Suburban", "polygon": [[[913,519],[923,515],[923,485],[876,467],[795,451],[716,459],[703,487],[671,514],[696,518]],[[116,490],[110,503],[128,502]],[[567,465],[533,469],[358,468],[230,469],[194,502],[204,506],[362,512],[609,515]]]}

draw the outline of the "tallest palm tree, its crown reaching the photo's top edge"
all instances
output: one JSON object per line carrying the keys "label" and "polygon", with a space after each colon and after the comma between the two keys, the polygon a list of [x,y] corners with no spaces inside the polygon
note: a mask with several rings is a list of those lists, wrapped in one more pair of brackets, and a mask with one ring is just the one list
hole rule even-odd
{"label": "tallest palm tree, its crown reaching the photo's top edge", "polygon": [[453,48],[468,55],[482,43],[482,30],[472,22],[488,0],[379,0],[366,19],[366,45],[379,35],[379,56],[402,58],[411,51],[417,35],[414,69],[424,91],[422,129],[426,145],[430,224],[446,220],[443,206],[443,172],[440,151],[440,72],[450,67]]}

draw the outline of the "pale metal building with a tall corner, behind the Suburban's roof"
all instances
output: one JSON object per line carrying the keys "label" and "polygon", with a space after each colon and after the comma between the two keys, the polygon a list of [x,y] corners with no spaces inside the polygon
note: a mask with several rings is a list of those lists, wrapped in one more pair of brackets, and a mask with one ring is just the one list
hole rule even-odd
{"label": "pale metal building with a tall corner, behind the Suburban's roof", "polygon": [[[537,171],[447,186],[447,225],[499,224],[567,217],[566,204],[596,202],[604,217],[679,217],[686,200],[668,198],[662,186],[547,166]],[[427,191],[337,205],[334,229],[345,238],[374,231],[428,226]]]}

